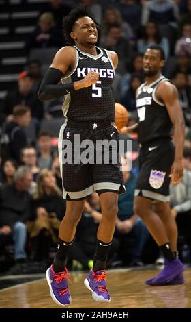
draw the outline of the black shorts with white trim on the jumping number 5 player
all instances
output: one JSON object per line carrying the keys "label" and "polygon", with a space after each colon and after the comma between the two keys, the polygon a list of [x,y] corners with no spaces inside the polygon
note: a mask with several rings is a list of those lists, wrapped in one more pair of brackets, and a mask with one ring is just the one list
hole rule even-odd
{"label": "black shorts with white trim on the jumping number 5 player", "polygon": [[[112,149],[107,144],[103,149],[100,145],[103,140],[105,143],[113,140]],[[59,133],[64,199],[85,199],[94,191],[126,192],[120,171],[118,140],[117,129],[108,122],[91,124],[65,120]]]}

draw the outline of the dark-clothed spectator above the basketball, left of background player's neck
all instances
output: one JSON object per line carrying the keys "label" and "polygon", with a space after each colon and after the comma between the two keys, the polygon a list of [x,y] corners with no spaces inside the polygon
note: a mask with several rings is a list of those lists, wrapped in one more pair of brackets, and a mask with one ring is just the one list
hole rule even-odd
{"label": "dark-clothed spectator above the basketball, left of background player's neck", "polygon": [[143,74],[132,73],[130,88],[121,97],[121,104],[126,107],[128,112],[136,110],[136,90],[143,83]]}

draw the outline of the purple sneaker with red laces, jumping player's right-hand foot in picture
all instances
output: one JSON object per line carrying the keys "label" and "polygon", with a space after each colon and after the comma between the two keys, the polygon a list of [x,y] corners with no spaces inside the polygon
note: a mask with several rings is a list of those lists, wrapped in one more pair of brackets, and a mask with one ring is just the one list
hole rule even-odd
{"label": "purple sneaker with red laces, jumping player's right-hand foot in picture", "polygon": [[98,271],[96,273],[91,269],[84,281],[85,286],[91,290],[92,297],[98,302],[110,302],[110,296],[106,288],[106,271]]}

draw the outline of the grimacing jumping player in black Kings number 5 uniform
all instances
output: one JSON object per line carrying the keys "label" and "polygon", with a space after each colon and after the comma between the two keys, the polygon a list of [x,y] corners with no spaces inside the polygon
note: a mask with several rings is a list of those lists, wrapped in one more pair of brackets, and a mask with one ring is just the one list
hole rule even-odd
{"label": "grimacing jumping player in black Kings number 5 uniform", "polygon": [[[76,8],[65,17],[63,30],[73,46],[61,48],[44,75],[39,90],[43,101],[65,96],[65,123],[59,134],[59,160],[63,179],[63,197],[67,208],[59,228],[59,241],[53,265],[46,271],[50,295],[60,305],[71,303],[66,269],[68,251],[74,240],[76,225],[87,195],[100,195],[102,220],[98,228],[93,269],[85,280],[95,301],[110,301],[106,288],[106,259],[112,242],[119,193],[125,192],[119,162],[96,164],[72,162],[63,164],[63,140],[118,140],[115,127],[114,99],[111,84],[117,67],[117,54],[95,46],[98,38],[95,19],[85,8]],[[58,84],[61,80],[62,84]],[[93,148],[95,150],[95,147]],[[83,152],[83,149],[80,151]],[[118,153],[116,149],[115,153]],[[72,164],[71,164],[72,163]]]}

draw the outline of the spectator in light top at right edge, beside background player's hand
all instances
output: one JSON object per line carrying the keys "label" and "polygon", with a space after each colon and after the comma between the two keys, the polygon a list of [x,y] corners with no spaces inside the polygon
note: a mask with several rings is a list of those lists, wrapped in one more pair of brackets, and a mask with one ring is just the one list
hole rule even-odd
{"label": "spectator in light top at right edge, beside background player's hand", "polygon": [[179,235],[183,234],[190,249],[191,261],[191,149],[183,151],[183,178],[171,185],[171,214],[175,217]]}

